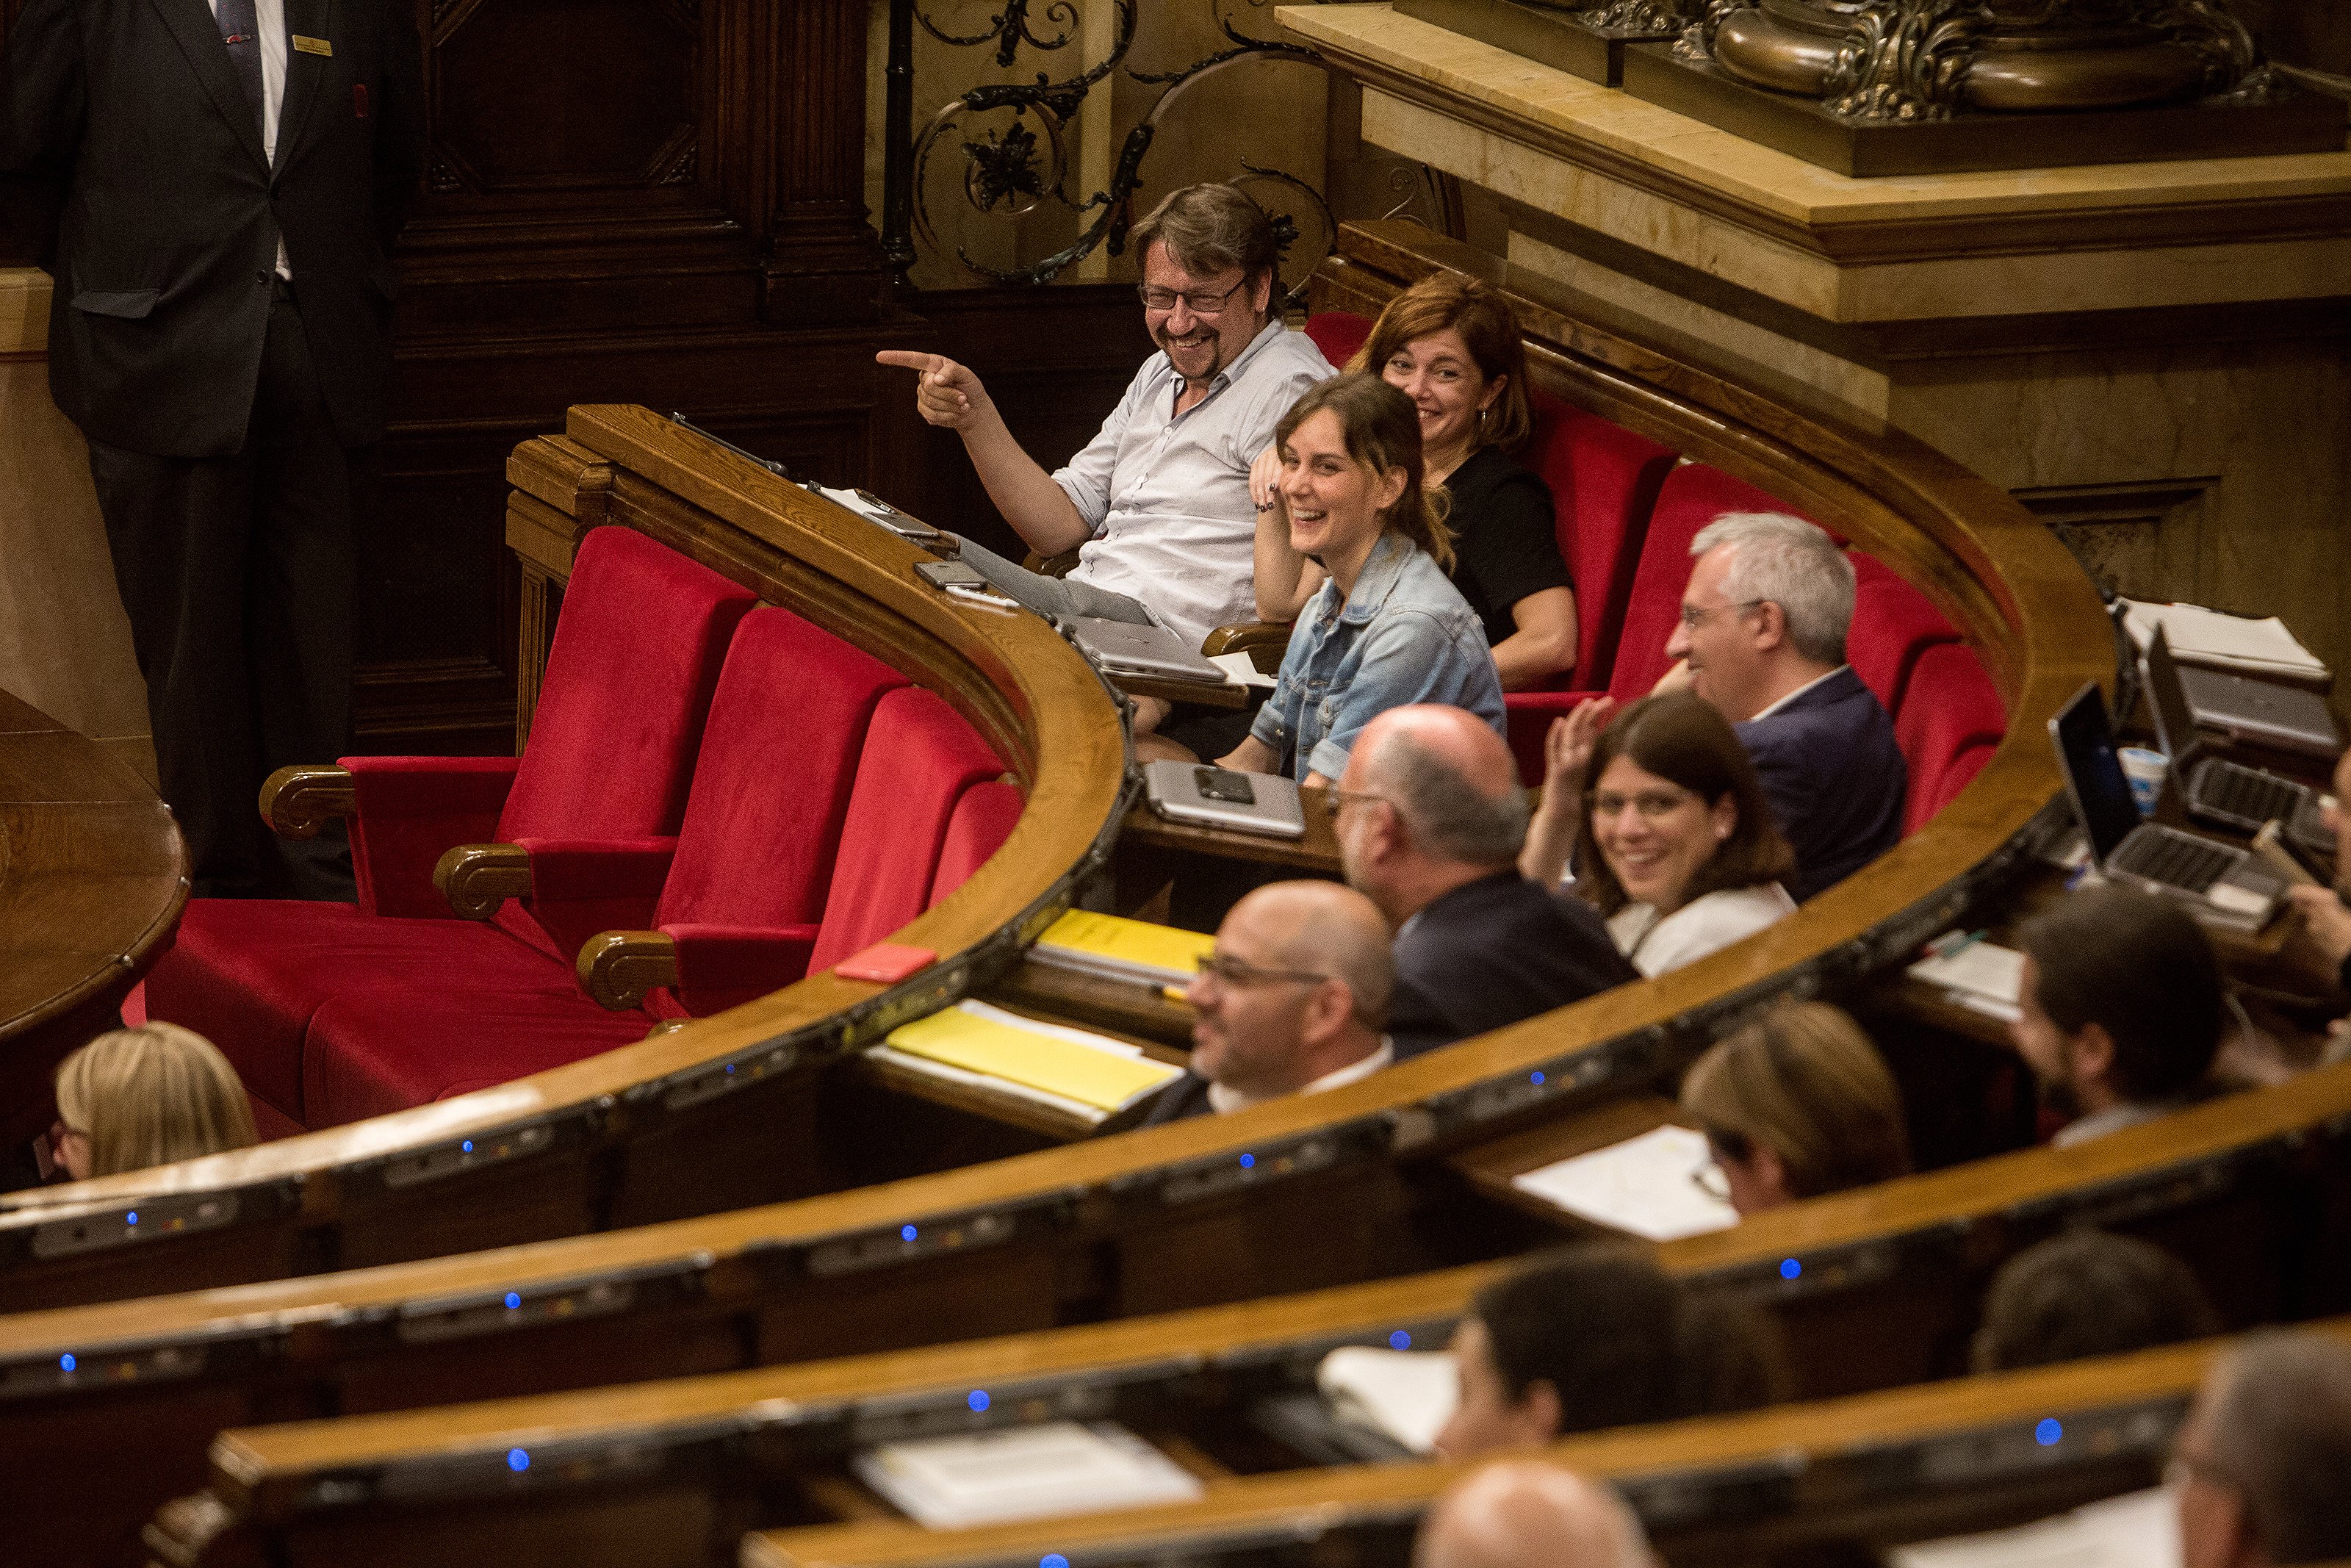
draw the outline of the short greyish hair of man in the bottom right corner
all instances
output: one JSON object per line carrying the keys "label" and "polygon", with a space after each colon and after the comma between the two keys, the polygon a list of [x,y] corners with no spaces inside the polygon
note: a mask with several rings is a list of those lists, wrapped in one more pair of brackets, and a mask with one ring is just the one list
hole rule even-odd
{"label": "short greyish hair of man in the bottom right corner", "polygon": [[2222,1359],[2205,1441],[2245,1495],[2271,1563],[2351,1556],[2351,1347],[2316,1333],[2245,1335]]}

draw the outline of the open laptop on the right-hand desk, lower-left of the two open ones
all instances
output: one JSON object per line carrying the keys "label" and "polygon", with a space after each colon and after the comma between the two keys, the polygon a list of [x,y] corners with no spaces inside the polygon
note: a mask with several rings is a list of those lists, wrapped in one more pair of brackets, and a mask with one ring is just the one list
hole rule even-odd
{"label": "open laptop on the right-hand desk, lower-left of the two open ones", "polygon": [[2090,863],[2106,882],[2177,898],[2212,926],[2259,931],[2269,924],[2285,896],[2280,877],[2243,849],[2139,820],[2097,682],[2083,682],[2057,710],[2050,741],[2074,816],[2090,839]]}

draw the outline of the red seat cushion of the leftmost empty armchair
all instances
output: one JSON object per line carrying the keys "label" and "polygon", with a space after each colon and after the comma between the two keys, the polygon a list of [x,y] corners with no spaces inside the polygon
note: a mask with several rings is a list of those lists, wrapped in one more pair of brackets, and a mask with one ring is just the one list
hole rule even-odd
{"label": "red seat cushion of the leftmost empty armchair", "polygon": [[421,999],[487,973],[576,994],[567,966],[470,919],[381,919],[357,905],[296,898],[195,898],[172,950],[148,973],[146,1009],[216,1044],[256,1100],[301,1126],[327,1126],[310,1103],[303,1041],[331,997],[362,990]]}

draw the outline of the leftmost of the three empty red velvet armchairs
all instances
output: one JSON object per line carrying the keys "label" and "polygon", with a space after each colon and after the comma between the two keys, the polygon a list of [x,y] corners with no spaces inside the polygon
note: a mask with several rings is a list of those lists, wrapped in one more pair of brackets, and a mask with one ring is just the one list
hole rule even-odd
{"label": "leftmost of the three empty red velvet armchairs", "polygon": [[[367,1114],[339,1086],[310,1093],[306,1041],[331,997],[379,1009],[440,990],[578,999],[569,952],[541,922],[513,905],[498,924],[451,917],[433,865],[491,837],[677,832],[719,661],[750,607],[750,590],[639,534],[590,531],[522,757],[346,757],[360,903],[190,903],[148,976],[148,1013],[214,1039],[270,1110],[329,1126]],[[576,1053],[644,1032],[642,1020],[595,1023]],[[494,1018],[465,1030],[494,1034]]]}

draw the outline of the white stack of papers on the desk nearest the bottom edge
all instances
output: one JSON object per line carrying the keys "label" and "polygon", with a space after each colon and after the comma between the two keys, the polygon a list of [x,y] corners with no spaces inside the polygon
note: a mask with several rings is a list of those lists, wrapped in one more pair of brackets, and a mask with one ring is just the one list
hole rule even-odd
{"label": "white stack of papers on the desk nearest the bottom edge", "polygon": [[1187,1502],[1201,1483],[1126,1427],[1074,1420],[882,1443],[858,1479],[931,1530]]}

